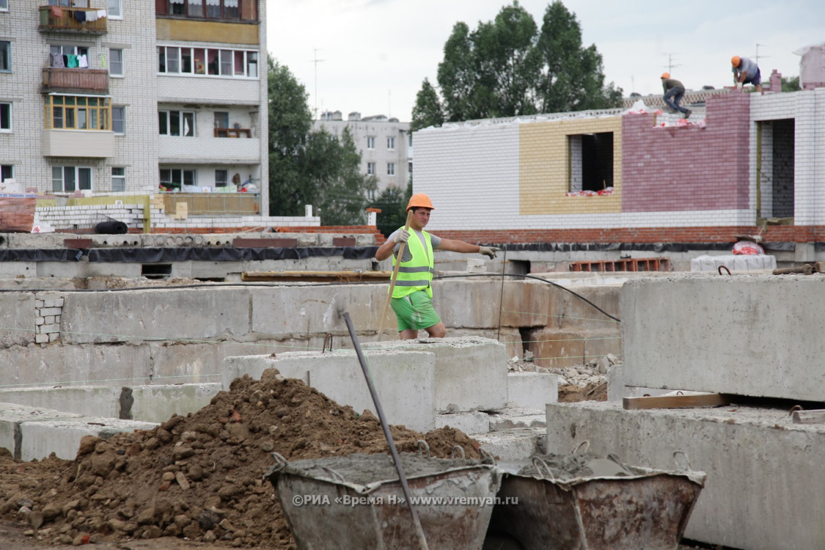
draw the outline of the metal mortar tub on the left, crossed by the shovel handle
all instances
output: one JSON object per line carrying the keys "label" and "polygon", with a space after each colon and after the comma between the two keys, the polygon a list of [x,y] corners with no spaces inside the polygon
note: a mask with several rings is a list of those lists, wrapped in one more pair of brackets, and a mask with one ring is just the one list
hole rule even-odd
{"label": "metal mortar tub on the left, crossed by the shovel handle", "polygon": [[[480,550],[502,473],[465,458],[401,453],[430,550]],[[421,548],[394,463],[351,454],[280,463],[266,473],[299,550]]]}

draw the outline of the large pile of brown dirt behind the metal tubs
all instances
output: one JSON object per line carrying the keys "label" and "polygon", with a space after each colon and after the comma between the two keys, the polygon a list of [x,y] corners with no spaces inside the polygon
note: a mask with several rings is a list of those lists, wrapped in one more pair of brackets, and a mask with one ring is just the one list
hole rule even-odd
{"label": "large pile of brown dirt behind the metal tubs", "polygon": [[[399,451],[426,440],[432,456],[479,444],[459,430],[390,428]],[[234,548],[295,548],[262,474],[276,451],[288,461],[389,453],[378,419],[267,370],[236,379],[207,407],[151,431],[83,438],[73,461],[0,457],[0,516],[47,544],[185,537]]]}

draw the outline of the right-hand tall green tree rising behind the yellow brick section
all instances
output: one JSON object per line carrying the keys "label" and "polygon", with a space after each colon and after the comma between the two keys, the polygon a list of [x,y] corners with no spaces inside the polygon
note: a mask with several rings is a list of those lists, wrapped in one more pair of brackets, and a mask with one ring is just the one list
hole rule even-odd
{"label": "right-hand tall green tree rising behind the yellow brick section", "polygon": [[538,49],[543,70],[537,90],[541,112],[603,109],[621,105],[622,90],[605,86],[596,45],[582,48],[575,14],[555,0],[544,11]]}

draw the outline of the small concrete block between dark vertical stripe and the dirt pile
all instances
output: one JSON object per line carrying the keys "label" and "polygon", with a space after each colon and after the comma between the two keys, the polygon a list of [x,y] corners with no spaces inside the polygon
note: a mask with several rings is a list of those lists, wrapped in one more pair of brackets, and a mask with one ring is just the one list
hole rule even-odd
{"label": "small concrete block between dark vertical stripe and the dirt pile", "polygon": [[173,414],[186,416],[210,404],[222,385],[215,383],[186,383],[163,386],[134,386],[131,389],[130,414],[121,399],[121,413],[131,420],[161,424]]}

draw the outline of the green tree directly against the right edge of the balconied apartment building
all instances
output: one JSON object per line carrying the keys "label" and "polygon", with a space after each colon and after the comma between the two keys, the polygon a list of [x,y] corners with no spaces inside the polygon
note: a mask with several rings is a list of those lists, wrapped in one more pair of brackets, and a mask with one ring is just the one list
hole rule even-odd
{"label": "green tree directly against the right edge of the balconied apartment building", "polygon": [[[269,214],[303,215],[306,196],[299,172],[312,113],[308,94],[290,69],[267,57],[269,91]],[[310,195],[311,196],[311,195]]]}

